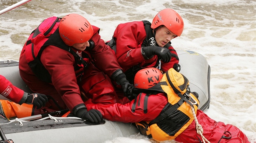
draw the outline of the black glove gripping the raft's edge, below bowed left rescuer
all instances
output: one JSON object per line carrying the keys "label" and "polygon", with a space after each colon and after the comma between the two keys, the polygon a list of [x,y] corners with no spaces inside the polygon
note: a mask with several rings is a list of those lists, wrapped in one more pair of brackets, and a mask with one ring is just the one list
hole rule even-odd
{"label": "black glove gripping the raft's edge, below bowed left rescuer", "polygon": [[96,109],[87,111],[87,108],[79,109],[76,112],[76,117],[82,118],[83,120],[89,120],[92,123],[99,123],[102,120],[102,114]]}

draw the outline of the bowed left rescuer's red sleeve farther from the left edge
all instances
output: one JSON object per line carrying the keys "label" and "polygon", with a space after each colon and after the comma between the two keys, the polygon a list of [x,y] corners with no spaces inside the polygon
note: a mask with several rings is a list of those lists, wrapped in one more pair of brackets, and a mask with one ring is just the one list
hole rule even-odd
{"label": "bowed left rescuer's red sleeve farther from the left edge", "polygon": [[117,62],[115,53],[113,50],[107,46],[104,40],[101,39],[99,35],[100,29],[98,27],[92,26],[94,35],[90,39],[94,42],[95,47],[90,51],[91,55],[95,60],[95,65],[109,77],[117,70],[121,69],[119,63]]}

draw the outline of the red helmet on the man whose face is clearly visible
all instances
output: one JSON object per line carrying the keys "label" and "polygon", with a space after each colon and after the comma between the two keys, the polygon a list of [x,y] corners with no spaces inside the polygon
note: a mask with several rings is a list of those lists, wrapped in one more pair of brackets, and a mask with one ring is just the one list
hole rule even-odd
{"label": "red helmet on the man whose face is clearly visible", "polygon": [[165,25],[175,35],[180,36],[183,32],[184,23],[180,15],[171,8],[165,8],[160,11],[153,19],[151,28]]}

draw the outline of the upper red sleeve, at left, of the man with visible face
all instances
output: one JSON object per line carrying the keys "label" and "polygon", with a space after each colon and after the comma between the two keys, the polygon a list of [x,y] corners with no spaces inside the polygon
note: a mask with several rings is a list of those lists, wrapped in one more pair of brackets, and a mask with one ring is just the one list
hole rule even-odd
{"label": "upper red sleeve, at left, of the man with visible face", "polygon": [[119,64],[124,69],[137,65],[145,59],[141,54],[141,44],[146,38],[143,21],[119,24],[113,35]]}

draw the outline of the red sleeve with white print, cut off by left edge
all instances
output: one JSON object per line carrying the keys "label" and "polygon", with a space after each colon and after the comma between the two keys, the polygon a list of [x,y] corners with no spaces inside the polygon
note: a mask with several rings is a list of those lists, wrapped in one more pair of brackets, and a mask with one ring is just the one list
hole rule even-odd
{"label": "red sleeve with white print, cut off by left edge", "polygon": [[15,103],[19,103],[24,95],[24,91],[14,86],[2,75],[0,75],[0,83],[0,94]]}

